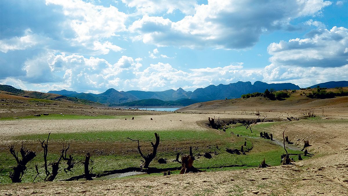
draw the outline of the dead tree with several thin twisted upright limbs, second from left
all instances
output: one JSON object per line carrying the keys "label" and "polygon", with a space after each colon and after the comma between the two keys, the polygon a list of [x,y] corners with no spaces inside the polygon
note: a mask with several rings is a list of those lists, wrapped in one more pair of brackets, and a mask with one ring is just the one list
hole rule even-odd
{"label": "dead tree with several thin twisted upright limbs, second from left", "polygon": [[35,181],[37,176],[39,176],[44,181],[53,181],[56,178],[56,176],[58,175],[59,163],[60,163],[60,161],[62,159],[68,161],[67,162],[68,167],[64,169],[65,172],[66,171],[71,171],[71,169],[74,166],[74,163],[72,161],[73,158],[71,156],[69,158],[66,158],[66,152],[69,150],[70,144],[69,144],[69,146],[63,144],[63,148],[62,148],[62,151],[61,151],[61,156],[59,157],[59,159],[57,161],[49,164],[52,167],[52,172],[48,171],[47,154],[48,154],[48,141],[49,141],[50,134],[51,134],[51,132],[48,132],[48,137],[47,137],[46,141],[45,140],[41,141],[39,139],[39,141],[41,143],[41,147],[44,149],[44,166],[45,166],[46,177],[44,179],[41,178],[40,173],[39,173],[39,169],[38,169],[38,165],[36,165],[35,169],[36,169],[37,175],[35,176],[34,181]]}

